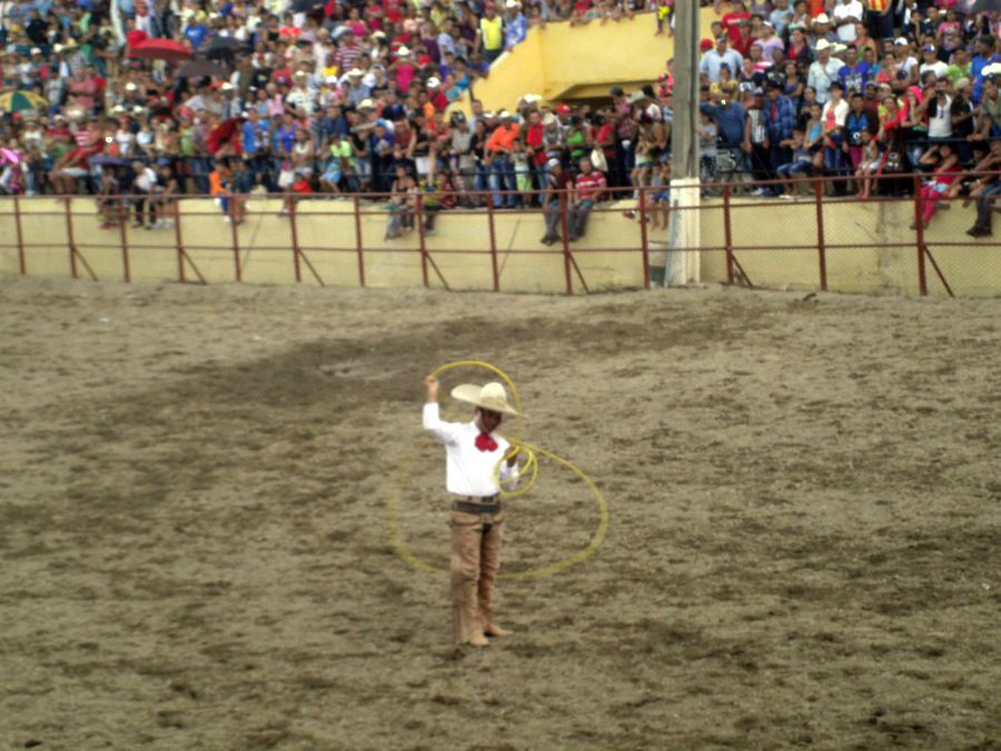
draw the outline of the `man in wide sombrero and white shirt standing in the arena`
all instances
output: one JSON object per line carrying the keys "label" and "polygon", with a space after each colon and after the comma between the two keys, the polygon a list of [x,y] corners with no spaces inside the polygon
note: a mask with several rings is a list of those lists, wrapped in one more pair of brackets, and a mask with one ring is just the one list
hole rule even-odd
{"label": "man in wide sombrero and white shirt standing in the arena", "polygon": [[493,435],[504,415],[518,413],[498,383],[464,384],[453,398],[476,407],[469,423],[446,423],[438,415],[438,379],[429,375],[424,428],[445,444],[446,487],[452,503],[452,613],[459,644],[487,646],[487,636],[508,636],[494,622],[494,587],[500,567],[504,514],[500,488],[517,482],[517,449]]}

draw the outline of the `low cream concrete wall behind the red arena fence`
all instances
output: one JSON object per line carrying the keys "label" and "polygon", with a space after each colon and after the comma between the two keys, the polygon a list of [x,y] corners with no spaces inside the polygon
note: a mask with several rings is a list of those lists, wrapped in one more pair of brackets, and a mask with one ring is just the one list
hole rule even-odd
{"label": "low cream concrete wall behind the red arena fence", "polygon": [[[378,206],[363,206],[360,217],[365,284],[371,287],[419,287],[424,284],[416,233],[398,240],[385,240],[387,213]],[[723,210],[710,201],[701,211],[702,246],[720,248],[702,254],[701,280],[726,280]],[[207,199],[180,202],[180,240],[191,263],[209,284],[236,280],[232,227]],[[241,279],[250,284],[294,284],[291,223],[277,216],[280,199],[252,199],[250,214],[237,228]],[[574,258],[592,290],[643,286],[642,240],[635,220],[623,216],[628,202],[608,213],[592,214],[587,236],[574,244]],[[101,280],[125,278],[122,234],[118,227],[100,229],[92,198],[71,198],[71,223],[66,201],[56,198],[21,199],[21,236],[27,273],[32,276],[67,277],[71,274],[69,235],[72,231],[80,254]],[[901,244],[888,248],[830,248],[826,251],[827,285],[844,293],[918,294],[916,250],[913,233],[906,229],[912,205],[906,201],[879,204],[829,202],[823,207],[829,244]],[[926,241],[942,273],[957,295],[1001,294],[1001,260],[997,243],[957,247],[954,228],[973,221],[973,209],[953,207],[952,220],[933,221]],[[961,216],[955,216],[961,215]],[[965,216],[969,215],[969,216]],[[539,243],[541,214],[494,215],[500,289],[518,293],[563,293],[566,289],[564,258],[556,248]],[[967,221],[969,220],[969,221]],[[965,223],[965,224],[964,224]],[[766,235],[762,231],[766,228]],[[426,240],[429,257],[452,289],[492,289],[489,224],[483,214],[446,211],[438,217],[437,233]],[[309,200],[299,204],[296,220],[299,247],[316,274],[329,286],[359,286],[356,225],[349,200]],[[732,208],[734,255],[750,279],[762,287],[813,290],[819,287],[816,214],[812,201],[767,202]],[[965,235],[962,236],[965,239]],[[651,234],[651,263],[663,264],[665,233]],[[988,238],[990,239],[990,238]],[[126,233],[128,259],[133,281],[177,281],[177,234],[174,229]],[[809,245],[806,249],[741,249],[755,245]],[[602,249],[604,248],[604,249]],[[607,248],[623,248],[612,251]],[[589,250],[589,251],[588,251]],[[13,199],[0,200],[0,273],[19,274],[18,229]],[[198,277],[185,264],[189,281]],[[82,264],[78,275],[89,278]],[[305,284],[317,284],[304,263]],[[443,284],[433,267],[428,283]],[[929,265],[931,294],[945,294]],[[574,288],[582,286],[574,274]]]}

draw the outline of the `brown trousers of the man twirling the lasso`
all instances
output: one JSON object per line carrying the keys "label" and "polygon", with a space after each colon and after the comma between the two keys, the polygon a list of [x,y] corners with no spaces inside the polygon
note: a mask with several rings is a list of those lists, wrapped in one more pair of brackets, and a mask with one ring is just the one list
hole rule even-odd
{"label": "brown trousers of the man twirling the lasso", "polygon": [[494,615],[504,513],[489,518],[493,526],[484,534],[479,514],[452,512],[452,615],[459,644],[482,635]]}

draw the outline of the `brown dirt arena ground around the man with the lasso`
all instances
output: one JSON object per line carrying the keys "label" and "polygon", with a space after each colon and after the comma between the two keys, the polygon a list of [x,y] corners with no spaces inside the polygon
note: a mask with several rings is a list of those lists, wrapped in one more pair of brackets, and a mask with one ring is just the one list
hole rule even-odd
{"label": "brown dirt arena ground around the man with the lasso", "polygon": [[[0,279],[0,744],[1001,748],[999,320]],[[462,358],[611,510],[593,556],[504,582],[517,634],[484,651],[387,536],[395,503],[446,562],[422,381]],[[542,470],[508,572],[597,527]]]}

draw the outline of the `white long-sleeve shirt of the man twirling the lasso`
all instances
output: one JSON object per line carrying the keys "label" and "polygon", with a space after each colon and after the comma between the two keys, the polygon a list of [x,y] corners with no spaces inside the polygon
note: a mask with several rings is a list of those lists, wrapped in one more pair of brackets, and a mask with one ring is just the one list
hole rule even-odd
{"label": "white long-sleeve shirt of the man twirling the lasso", "polygon": [[500,482],[512,490],[518,477],[518,467],[507,466],[504,456],[511,444],[499,435],[494,435],[497,448],[479,451],[476,423],[446,423],[438,415],[438,405],[424,405],[424,429],[445,444],[445,486],[449,493],[472,497],[489,497],[499,492],[497,487],[497,464],[500,464]]}

